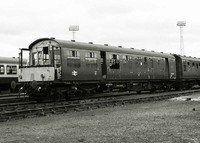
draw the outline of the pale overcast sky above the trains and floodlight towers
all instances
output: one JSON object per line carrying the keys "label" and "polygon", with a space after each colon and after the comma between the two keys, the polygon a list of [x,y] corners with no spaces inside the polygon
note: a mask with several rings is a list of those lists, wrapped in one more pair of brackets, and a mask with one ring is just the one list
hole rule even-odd
{"label": "pale overcast sky above the trains and floodlight towers", "polygon": [[199,0],[5,0],[0,3],[0,56],[17,57],[39,38],[200,57]]}

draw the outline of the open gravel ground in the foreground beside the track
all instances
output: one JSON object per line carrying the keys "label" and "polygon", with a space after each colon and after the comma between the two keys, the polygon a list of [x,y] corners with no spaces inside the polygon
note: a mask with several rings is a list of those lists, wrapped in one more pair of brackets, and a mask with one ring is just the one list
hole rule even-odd
{"label": "open gravel ground in the foreground beside the track", "polygon": [[199,97],[4,122],[0,143],[199,143]]}

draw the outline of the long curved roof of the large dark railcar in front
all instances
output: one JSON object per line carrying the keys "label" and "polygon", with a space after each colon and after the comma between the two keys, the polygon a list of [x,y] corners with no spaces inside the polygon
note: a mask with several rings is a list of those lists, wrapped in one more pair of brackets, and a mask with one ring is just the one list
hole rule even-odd
{"label": "long curved roof of the large dark railcar in front", "polygon": [[59,39],[54,39],[54,38],[38,39],[30,44],[29,49],[31,49],[35,44],[45,41],[45,40],[55,41],[59,44],[61,48],[87,49],[87,50],[92,50],[92,51],[106,51],[106,52],[113,52],[113,53],[144,55],[144,56],[151,56],[151,57],[175,58],[172,54],[159,53],[159,52],[154,52],[154,51],[131,49],[131,48],[125,48],[121,46],[117,47],[117,46],[108,46],[108,45],[100,45],[100,44],[93,44],[93,43],[75,42],[73,40],[72,41],[59,40]]}

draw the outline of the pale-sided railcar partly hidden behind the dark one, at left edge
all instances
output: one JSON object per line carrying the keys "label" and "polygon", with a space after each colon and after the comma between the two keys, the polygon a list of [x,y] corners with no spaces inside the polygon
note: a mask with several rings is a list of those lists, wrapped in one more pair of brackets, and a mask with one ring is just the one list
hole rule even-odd
{"label": "pale-sided railcar partly hidden behind the dark one, at left edge", "polygon": [[0,57],[0,91],[15,88],[18,82],[18,58]]}

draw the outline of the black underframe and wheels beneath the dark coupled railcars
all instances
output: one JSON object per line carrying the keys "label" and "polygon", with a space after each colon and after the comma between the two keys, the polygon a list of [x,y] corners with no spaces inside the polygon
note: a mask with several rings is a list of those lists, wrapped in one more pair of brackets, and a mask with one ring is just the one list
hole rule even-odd
{"label": "black underframe and wheels beneath the dark coupled railcars", "polygon": [[142,80],[142,81],[98,81],[98,82],[30,82],[24,83],[20,93],[25,92],[30,99],[37,101],[60,101],[70,99],[84,99],[105,92],[134,91],[140,94],[142,91],[151,93],[162,90],[190,89],[194,85],[200,85],[199,81],[176,80]]}

